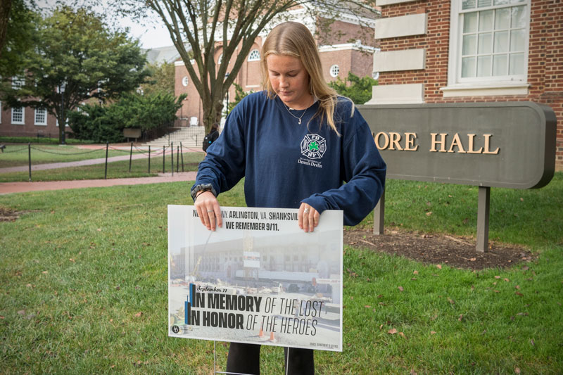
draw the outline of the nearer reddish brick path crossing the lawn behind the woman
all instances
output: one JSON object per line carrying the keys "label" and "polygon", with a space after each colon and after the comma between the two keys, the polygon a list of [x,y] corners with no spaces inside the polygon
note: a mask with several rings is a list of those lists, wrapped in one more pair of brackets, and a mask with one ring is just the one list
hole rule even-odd
{"label": "nearer reddish brick path crossing the lawn behind the woman", "polygon": [[174,176],[172,176],[171,173],[165,173],[157,177],[139,177],[130,179],[77,179],[73,181],[3,182],[0,183],[0,195],[9,193],[23,193],[25,191],[63,190],[80,189],[87,187],[195,181],[196,174],[197,172],[179,172],[175,173]]}

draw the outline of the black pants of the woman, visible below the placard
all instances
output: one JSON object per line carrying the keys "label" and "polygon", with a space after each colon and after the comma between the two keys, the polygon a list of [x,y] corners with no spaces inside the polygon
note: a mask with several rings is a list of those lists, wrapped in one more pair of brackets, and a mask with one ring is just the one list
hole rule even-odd
{"label": "black pants of the woman, visible below the placard", "polygon": [[[286,374],[313,375],[315,362],[311,349],[284,348],[284,364],[287,364],[289,349],[289,365]],[[227,357],[227,372],[235,374],[260,374],[260,345],[231,343]]]}

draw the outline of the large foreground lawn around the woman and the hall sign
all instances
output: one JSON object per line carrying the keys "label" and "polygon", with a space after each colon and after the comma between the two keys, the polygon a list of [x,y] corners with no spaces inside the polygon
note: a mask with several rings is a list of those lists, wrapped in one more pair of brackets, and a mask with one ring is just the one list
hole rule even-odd
{"label": "large foreground lawn around the woman and the hall sign", "polygon": [[[191,204],[189,186],[0,196],[0,208],[25,212],[0,223],[0,373],[210,374],[213,343],[166,329],[166,205]],[[469,189],[389,181],[387,222],[474,236]],[[241,184],[220,203],[243,205]],[[492,190],[491,237],[538,254],[510,269],[346,247],[344,351],[316,351],[317,373],[560,374],[562,208],[561,173],[543,189]],[[226,353],[218,343],[221,369]],[[282,371],[283,351],[263,347],[262,374]]]}

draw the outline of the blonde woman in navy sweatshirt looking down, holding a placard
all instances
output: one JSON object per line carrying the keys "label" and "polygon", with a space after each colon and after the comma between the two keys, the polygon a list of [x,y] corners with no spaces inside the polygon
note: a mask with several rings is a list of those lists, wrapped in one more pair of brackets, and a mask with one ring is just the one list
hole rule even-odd
{"label": "blonde woman in navy sweatshirt looking down, holding a placard", "polygon": [[[324,210],[343,210],[346,225],[358,224],[379,201],[386,172],[367,123],[324,82],[315,39],[301,23],[274,27],[261,59],[264,91],[229,113],[199,165],[191,196],[202,224],[222,227],[216,197],[242,177],[248,207],[299,208],[305,232]],[[312,350],[285,353],[286,374],[314,374]],[[260,345],[231,343],[227,372],[259,374]]]}

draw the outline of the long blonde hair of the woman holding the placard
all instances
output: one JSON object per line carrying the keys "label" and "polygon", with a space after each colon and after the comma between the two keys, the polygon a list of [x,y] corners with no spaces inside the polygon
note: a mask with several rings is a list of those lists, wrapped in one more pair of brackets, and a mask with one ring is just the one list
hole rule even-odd
{"label": "long blonde hair of the woman holding the placard", "polygon": [[[269,98],[274,98],[276,93],[272,88],[268,75],[268,65],[266,58],[270,55],[286,55],[298,58],[309,75],[310,94],[316,96],[319,101],[319,109],[312,118],[320,117],[320,123],[326,118],[327,123],[336,134],[339,134],[334,122],[334,110],[339,98],[336,91],[331,88],[322,77],[322,64],[319,50],[315,39],[305,25],[296,22],[280,23],[268,34],[264,44],[260,59],[262,61],[262,83],[263,89],[267,91]],[[352,113],[354,105],[352,103]],[[340,134],[339,134],[340,135]]]}

